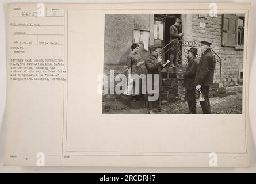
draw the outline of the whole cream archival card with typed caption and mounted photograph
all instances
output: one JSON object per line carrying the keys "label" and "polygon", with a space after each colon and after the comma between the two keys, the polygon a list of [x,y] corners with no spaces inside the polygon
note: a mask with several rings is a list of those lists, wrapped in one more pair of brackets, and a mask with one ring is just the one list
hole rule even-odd
{"label": "whole cream archival card with typed caption and mounted photograph", "polygon": [[250,166],[250,14],[8,4],[6,166]]}

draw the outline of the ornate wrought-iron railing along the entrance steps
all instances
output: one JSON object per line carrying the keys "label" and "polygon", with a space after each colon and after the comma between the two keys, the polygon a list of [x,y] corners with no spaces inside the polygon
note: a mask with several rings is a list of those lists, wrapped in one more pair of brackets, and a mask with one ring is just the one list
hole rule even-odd
{"label": "ornate wrought-iron railing along the entrance steps", "polygon": [[[161,51],[163,51],[163,55],[165,55],[166,53],[168,53],[168,59],[170,60],[170,50],[171,50],[171,44],[176,44],[175,45],[175,60],[173,61],[174,65],[176,66],[176,70],[177,70],[177,66],[178,63],[182,62],[185,63],[184,65],[186,66],[186,64],[188,64],[188,48],[189,47],[201,47],[201,42],[200,41],[189,41],[189,40],[172,40],[170,41],[167,45],[165,45],[165,47],[163,47],[161,49]],[[184,48],[184,52],[182,52],[182,48]],[[181,51],[181,53],[178,53],[178,49]],[[217,61],[217,63],[219,63],[220,66],[220,87],[221,85],[221,66],[222,66],[222,60],[220,58],[219,55],[217,55],[217,53],[211,48],[211,51],[213,53],[213,56],[215,57],[215,60]],[[201,54],[198,53],[197,54],[198,57],[201,57]],[[216,69],[216,68],[215,68]],[[169,70],[167,70],[169,71]],[[167,76],[169,76],[169,74],[167,74]]]}

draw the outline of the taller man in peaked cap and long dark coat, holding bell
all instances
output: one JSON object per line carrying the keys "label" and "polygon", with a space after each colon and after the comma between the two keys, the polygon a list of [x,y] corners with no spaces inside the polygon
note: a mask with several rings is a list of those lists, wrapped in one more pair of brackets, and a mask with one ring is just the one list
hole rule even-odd
{"label": "taller man in peaked cap and long dark coat, holding bell", "polygon": [[201,41],[202,56],[197,67],[196,72],[196,90],[201,91],[204,95],[204,101],[200,101],[202,112],[204,114],[211,114],[211,106],[209,100],[209,89],[213,84],[213,76],[215,70],[216,60],[211,50],[212,43],[208,41]]}

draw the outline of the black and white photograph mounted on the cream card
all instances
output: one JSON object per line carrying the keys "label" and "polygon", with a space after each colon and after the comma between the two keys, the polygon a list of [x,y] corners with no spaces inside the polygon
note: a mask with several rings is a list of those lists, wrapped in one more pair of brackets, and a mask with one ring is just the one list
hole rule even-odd
{"label": "black and white photograph mounted on the cream card", "polygon": [[244,14],[105,14],[104,114],[242,114]]}

